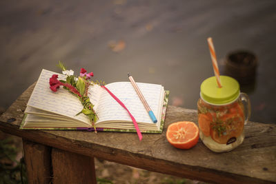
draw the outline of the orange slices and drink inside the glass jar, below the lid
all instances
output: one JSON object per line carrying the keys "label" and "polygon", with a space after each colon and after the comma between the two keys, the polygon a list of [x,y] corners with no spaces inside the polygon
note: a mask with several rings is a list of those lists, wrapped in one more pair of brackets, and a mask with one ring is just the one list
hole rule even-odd
{"label": "orange slices and drink inside the glass jar, below the lid", "polygon": [[199,136],[215,152],[232,150],[244,141],[244,105],[240,99],[229,105],[197,102]]}

